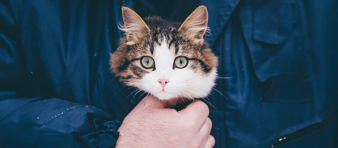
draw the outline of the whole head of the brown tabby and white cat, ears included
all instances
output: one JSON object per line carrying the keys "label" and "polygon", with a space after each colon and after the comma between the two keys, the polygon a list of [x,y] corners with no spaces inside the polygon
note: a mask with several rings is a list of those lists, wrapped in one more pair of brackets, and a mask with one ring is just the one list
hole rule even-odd
{"label": "whole head of the brown tabby and white cat, ears included", "polygon": [[111,55],[113,72],[128,86],[159,99],[204,98],[217,77],[217,57],[204,42],[208,13],[199,6],[181,25],[122,7],[126,38]]}

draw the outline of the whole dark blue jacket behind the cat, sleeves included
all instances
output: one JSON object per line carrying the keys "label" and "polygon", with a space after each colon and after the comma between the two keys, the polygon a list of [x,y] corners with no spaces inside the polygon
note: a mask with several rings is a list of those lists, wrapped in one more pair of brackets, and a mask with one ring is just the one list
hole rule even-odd
{"label": "whole dark blue jacket behind the cat, sleeves included", "polygon": [[[114,147],[142,98],[109,70],[121,5],[182,22],[203,2],[1,1],[0,147]],[[337,6],[207,2],[206,39],[231,77],[209,97],[215,147],[337,147]]]}

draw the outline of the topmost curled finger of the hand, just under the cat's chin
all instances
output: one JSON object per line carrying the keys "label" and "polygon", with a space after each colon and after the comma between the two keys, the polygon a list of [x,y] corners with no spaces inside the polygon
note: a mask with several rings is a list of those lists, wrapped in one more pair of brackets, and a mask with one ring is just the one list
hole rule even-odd
{"label": "topmost curled finger of the hand, just under the cat's chin", "polygon": [[185,116],[188,121],[201,126],[209,115],[209,108],[206,103],[197,100],[190,103],[185,109],[178,111],[178,113]]}

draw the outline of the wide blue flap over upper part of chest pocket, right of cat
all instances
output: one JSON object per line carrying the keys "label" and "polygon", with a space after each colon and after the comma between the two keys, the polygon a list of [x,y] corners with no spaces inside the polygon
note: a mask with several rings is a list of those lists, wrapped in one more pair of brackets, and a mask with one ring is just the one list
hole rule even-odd
{"label": "wide blue flap over upper part of chest pocket, right of cat", "polygon": [[252,64],[261,82],[281,74],[305,75],[308,67],[301,26],[297,17],[289,18],[299,16],[293,11],[297,5],[273,1],[250,1],[256,3],[238,11]]}

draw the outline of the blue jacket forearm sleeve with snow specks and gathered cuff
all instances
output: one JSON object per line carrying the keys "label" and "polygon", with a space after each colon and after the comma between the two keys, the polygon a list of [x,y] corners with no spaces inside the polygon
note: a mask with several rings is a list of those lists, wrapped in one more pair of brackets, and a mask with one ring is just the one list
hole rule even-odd
{"label": "blue jacket forearm sleeve with snow specks and gathered cuff", "polygon": [[101,109],[57,98],[0,92],[3,147],[114,147],[121,120]]}

